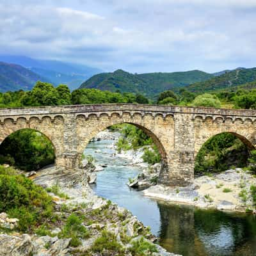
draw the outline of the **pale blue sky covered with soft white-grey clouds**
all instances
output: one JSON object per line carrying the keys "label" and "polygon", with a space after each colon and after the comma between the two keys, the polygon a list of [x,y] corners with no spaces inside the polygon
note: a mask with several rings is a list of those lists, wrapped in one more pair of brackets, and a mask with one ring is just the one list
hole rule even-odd
{"label": "pale blue sky covered with soft white-grey clouds", "polygon": [[256,0],[0,0],[0,54],[111,72],[256,66]]}

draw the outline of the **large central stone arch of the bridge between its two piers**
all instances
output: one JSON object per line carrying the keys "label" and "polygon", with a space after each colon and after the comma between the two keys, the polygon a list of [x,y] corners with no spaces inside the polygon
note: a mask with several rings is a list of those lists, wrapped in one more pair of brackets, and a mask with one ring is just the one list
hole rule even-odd
{"label": "large central stone arch of the bridge between its two piers", "polygon": [[151,114],[142,116],[141,113],[111,113],[97,115],[77,115],[76,129],[77,129],[77,152],[79,162],[83,154],[84,148],[88,145],[90,140],[94,138],[99,132],[108,129],[108,127],[116,124],[131,124],[142,131],[144,131],[156,144],[162,159],[161,175],[168,172],[168,153],[173,148],[173,117],[163,115],[152,116]]}

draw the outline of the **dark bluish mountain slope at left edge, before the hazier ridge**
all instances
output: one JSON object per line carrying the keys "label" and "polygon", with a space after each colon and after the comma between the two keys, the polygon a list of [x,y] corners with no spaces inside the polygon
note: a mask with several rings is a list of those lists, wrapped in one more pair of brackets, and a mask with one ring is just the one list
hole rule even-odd
{"label": "dark bluish mountain slope at left edge, before the hazier ridge", "polygon": [[47,81],[20,65],[0,62],[0,92],[31,90],[38,80]]}

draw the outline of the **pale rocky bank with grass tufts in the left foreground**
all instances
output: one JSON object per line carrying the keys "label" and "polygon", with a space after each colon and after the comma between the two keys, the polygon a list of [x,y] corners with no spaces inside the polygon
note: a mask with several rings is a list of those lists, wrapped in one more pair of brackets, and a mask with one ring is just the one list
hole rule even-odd
{"label": "pale rocky bank with grass tufts in the left foreground", "polygon": [[[0,255],[139,255],[136,250],[145,246],[145,255],[174,256],[156,244],[156,237],[131,212],[109,200],[96,196],[88,186],[84,170],[45,168],[33,173],[30,179],[47,189],[55,204],[55,213],[67,219],[72,214],[83,218],[88,230],[81,244],[72,246],[71,238],[59,238],[63,227],[56,223],[48,227],[47,235],[21,234],[8,228],[0,232]],[[51,189],[53,187],[58,189]],[[58,193],[56,192],[58,191]],[[15,228],[16,219],[0,214],[1,225]],[[155,243],[153,243],[155,242]]]}

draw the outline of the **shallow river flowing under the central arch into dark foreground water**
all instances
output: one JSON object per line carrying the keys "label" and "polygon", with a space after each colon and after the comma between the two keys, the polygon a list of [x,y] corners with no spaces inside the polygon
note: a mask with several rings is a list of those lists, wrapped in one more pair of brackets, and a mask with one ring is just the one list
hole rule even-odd
{"label": "shallow river flowing under the central arch into dark foreground water", "polygon": [[104,171],[97,172],[93,190],[125,207],[144,225],[150,226],[168,252],[184,256],[256,255],[255,216],[166,204],[143,196],[141,191],[126,185],[140,167],[131,166],[127,159],[113,157],[114,150],[109,148],[112,143],[113,140],[91,142],[84,151],[98,164],[108,165]]}

